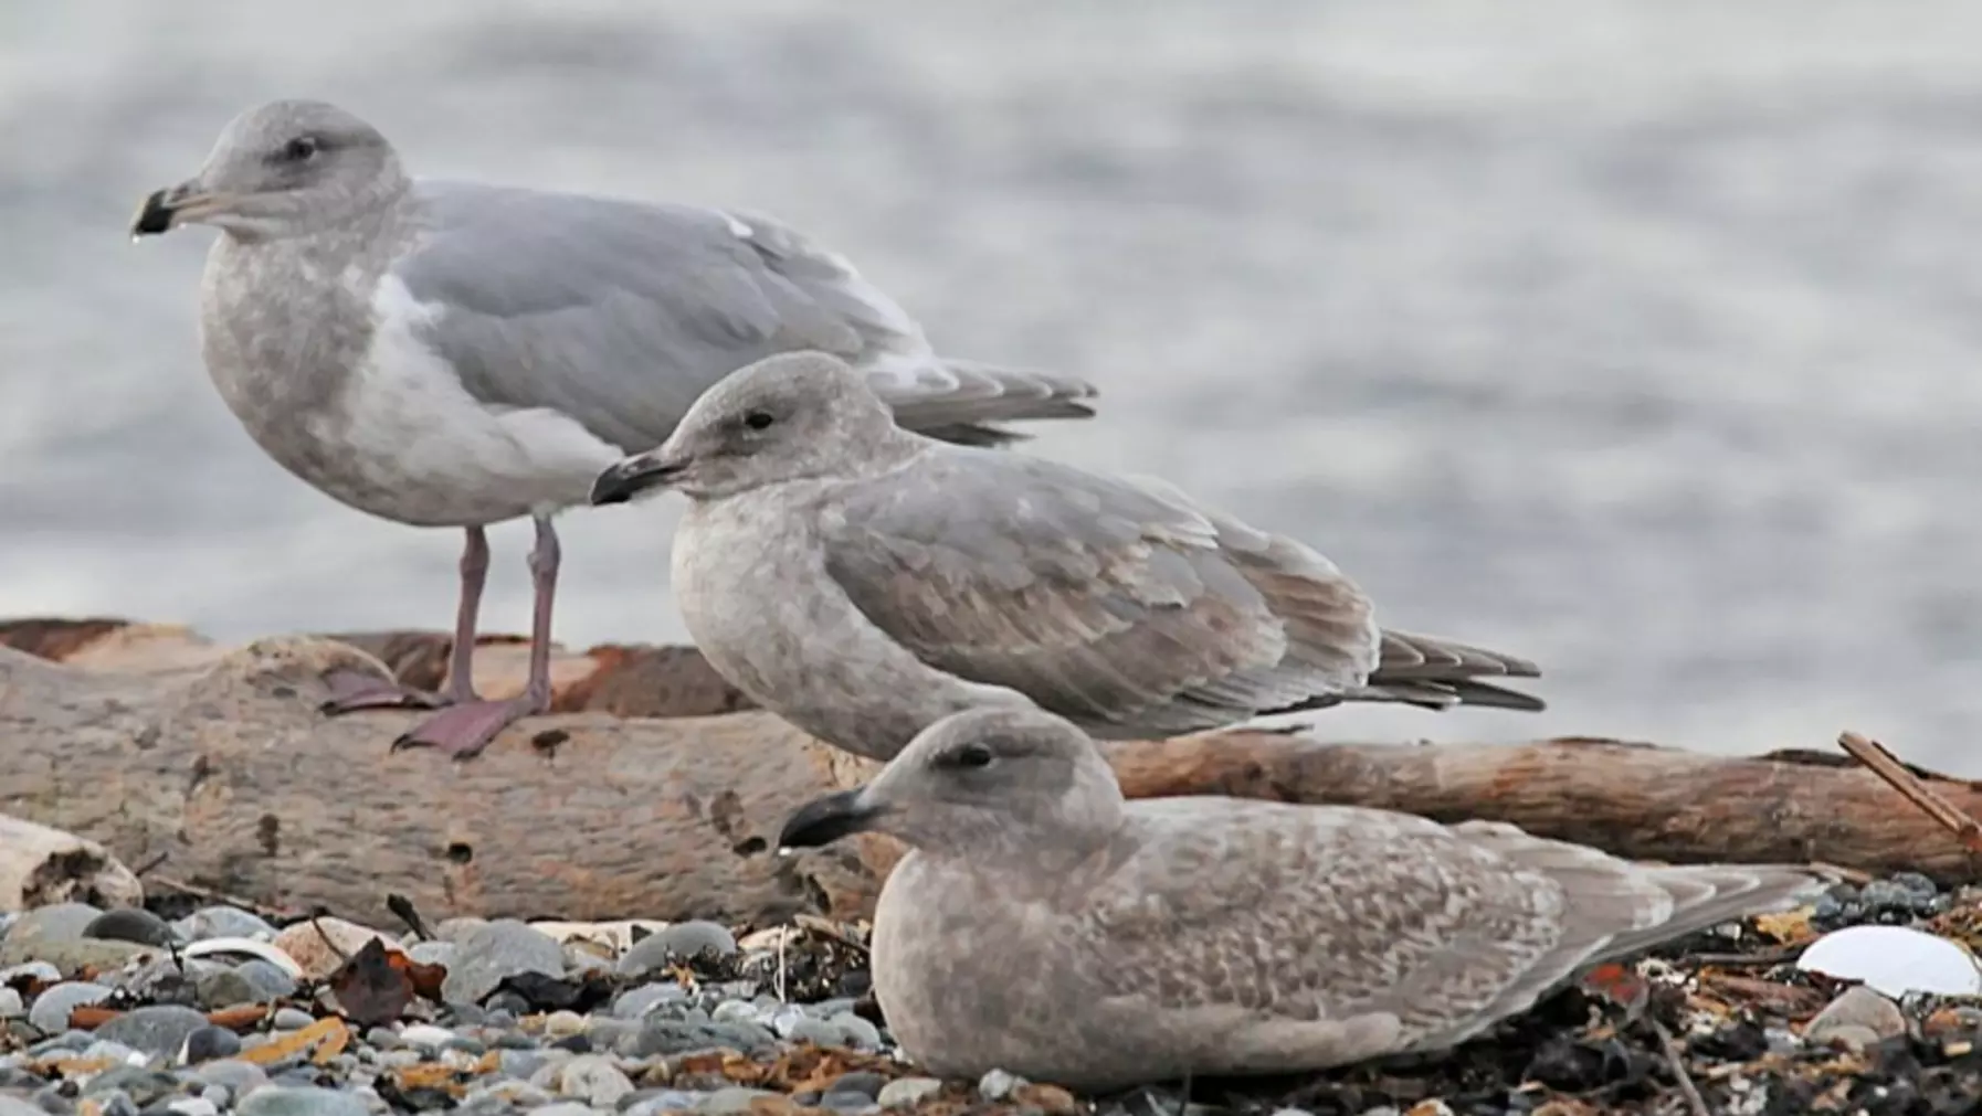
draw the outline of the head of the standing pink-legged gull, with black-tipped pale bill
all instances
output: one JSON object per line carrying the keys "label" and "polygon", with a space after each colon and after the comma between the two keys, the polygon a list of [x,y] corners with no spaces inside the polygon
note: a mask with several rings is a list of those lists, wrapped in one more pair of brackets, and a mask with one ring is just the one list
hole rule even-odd
{"label": "head of the standing pink-legged gull, with black-tipped pale bill", "polygon": [[337,228],[406,186],[379,129],[323,101],[272,101],[234,117],[206,164],[145,198],[133,235],[202,224],[246,239]]}

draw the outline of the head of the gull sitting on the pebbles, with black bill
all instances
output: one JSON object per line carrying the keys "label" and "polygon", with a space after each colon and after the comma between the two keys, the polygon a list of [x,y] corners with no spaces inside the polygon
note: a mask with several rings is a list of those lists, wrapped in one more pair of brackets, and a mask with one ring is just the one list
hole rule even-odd
{"label": "head of the gull sitting on the pebbles, with black bill", "polygon": [[924,728],[874,782],[815,799],[779,847],[888,833],[953,855],[1082,855],[1122,823],[1122,788],[1080,728],[1029,704],[953,712]]}

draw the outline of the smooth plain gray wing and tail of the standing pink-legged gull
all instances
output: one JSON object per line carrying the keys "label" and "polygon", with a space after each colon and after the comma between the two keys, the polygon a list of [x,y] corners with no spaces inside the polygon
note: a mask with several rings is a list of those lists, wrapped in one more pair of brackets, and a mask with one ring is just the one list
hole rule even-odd
{"label": "smooth plain gray wing and tail of the standing pink-legged gull", "polygon": [[392,263],[438,307],[428,340],[472,396],[555,408],[626,451],[658,445],[725,374],[797,348],[868,370],[904,425],[997,441],[977,423],[1080,418],[1092,388],[943,362],[842,257],[757,214],[468,182],[416,184],[414,247]]}

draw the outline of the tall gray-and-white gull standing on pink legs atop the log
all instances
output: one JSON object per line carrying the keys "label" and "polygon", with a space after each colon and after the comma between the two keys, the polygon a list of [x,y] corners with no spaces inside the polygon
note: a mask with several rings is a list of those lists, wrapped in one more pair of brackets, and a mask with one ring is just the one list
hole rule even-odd
{"label": "tall gray-and-white gull standing on pink legs atop the log", "polygon": [[[904,423],[967,443],[1009,441],[1007,419],[1092,414],[1078,380],[939,356],[846,259],[773,218],[410,178],[377,129],[317,101],[236,117],[133,232],[182,224],[220,230],[200,342],[256,443],[349,507],[466,530],[446,691],[339,675],[325,706],[442,708],[400,742],[456,756],[549,708],[551,516],[733,368],[830,350]],[[484,528],[525,514],[529,687],[480,700]]]}

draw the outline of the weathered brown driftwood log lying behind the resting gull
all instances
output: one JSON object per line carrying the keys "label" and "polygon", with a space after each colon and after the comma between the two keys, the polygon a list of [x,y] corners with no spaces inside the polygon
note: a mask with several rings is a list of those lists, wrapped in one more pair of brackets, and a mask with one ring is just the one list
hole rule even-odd
{"label": "weathered brown driftwood log lying behind the resting gull", "polygon": [[[454,764],[392,752],[414,712],[325,718],[323,673],[436,685],[446,637],[224,647],[161,625],[0,623],[0,813],[103,843],[151,884],[388,924],[422,914],[767,922],[872,910],[900,849],[771,849],[872,764],[747,708],[690,649],[557,661],[557,708]],[[478,647],[515,693],[523,647]],[[1130,797],[1231,793],[1500,819],[1659,861],[1825,861],[1982,879],[1960,843],[1841,756],[1716,758],[1613,740],[1324,744],[1233,730],[1108,750]],[[1982,784],[1930,776],[1982,811]]]}

